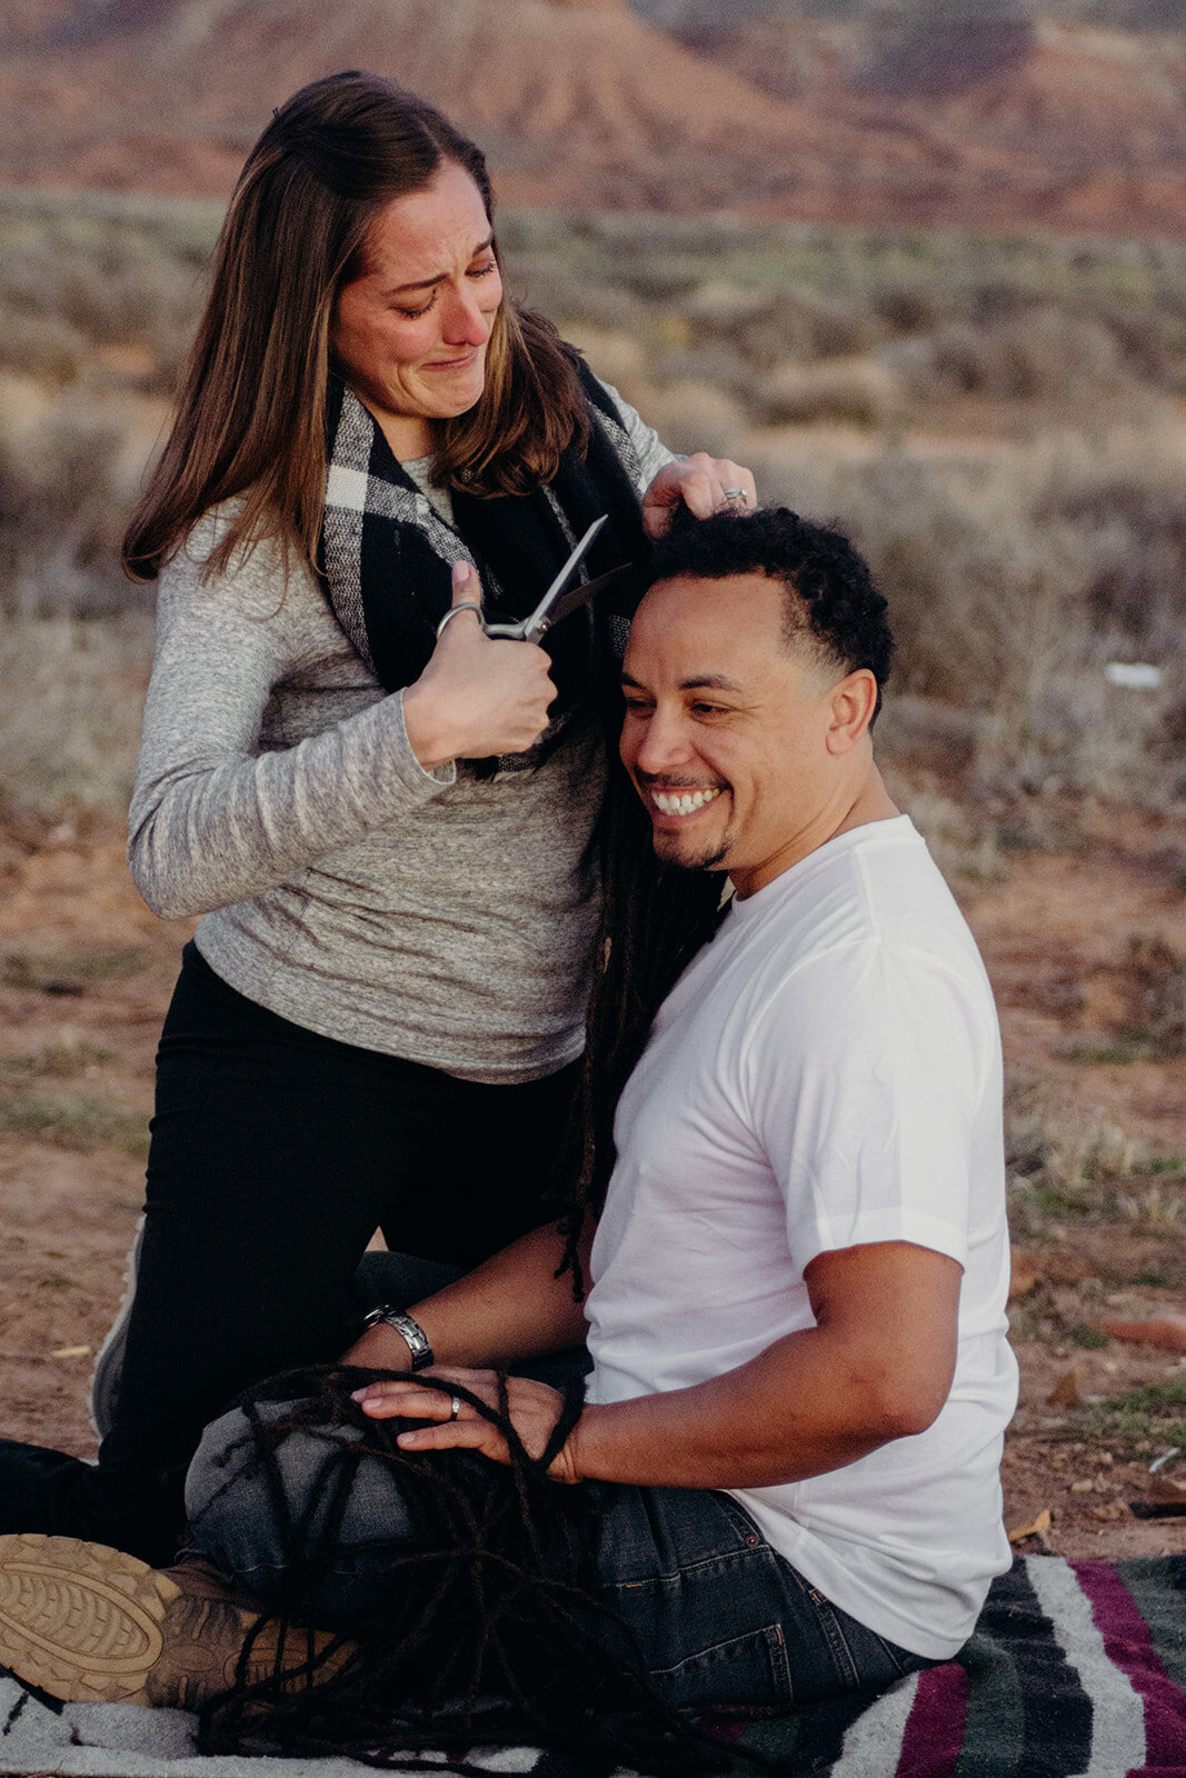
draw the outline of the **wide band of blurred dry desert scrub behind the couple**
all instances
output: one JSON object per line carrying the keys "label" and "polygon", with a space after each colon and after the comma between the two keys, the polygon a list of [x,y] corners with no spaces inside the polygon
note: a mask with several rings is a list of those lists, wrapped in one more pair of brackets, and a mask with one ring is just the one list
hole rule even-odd
{"label": "wide band of blurred dry desert scrub behind the couple", "polygon": [[[219,206],[0,194],[0,784],[117,813],[151,589],[117,567]],[[891,757],[960,798],[1186,798],[1186,247],[505,213],[510,286],[676,450],[836,519],[900,637]],[[1108,661],[1161,669],[1161,690]],[[921,779],[919,779],[921,773]]]}

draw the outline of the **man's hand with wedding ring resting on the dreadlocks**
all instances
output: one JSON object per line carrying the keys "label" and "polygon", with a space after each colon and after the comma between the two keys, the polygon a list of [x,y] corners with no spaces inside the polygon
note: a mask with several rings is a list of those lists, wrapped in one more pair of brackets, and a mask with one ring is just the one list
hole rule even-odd
{"label": "man's hand with wedding ring resting on the dreadlocks", "polygon": [[[457,619],[461,622],[461,619]],[[450,624],[452,629],[452,624]],[[498,1373],[462,1371],[439,1367],[425,1373],[437,1376],[445,1383],[461,1383],[473,1396],[478,1396],[491,1408],[498,1408]],[[453,1399],[436,1389],[423,1389],[418,1378],[391,1378],[382,1383],[368,1383],[354,1394],[363,1414],[375,1421],[404,1415],[413,1421],[436,1421],[436,1426],[423,1426],[418,1431],[400,1433],[398,1444],[404,1451],[448,1451],[462,1447],[480,1451],[494,1463],[509,1463],[507,1440],[489,1421],[482,1419],[477,1408],[461,1401],[453,1417]],[[549,1389],[548,1383],[535,1383],[530,1376],[507,1378],[507,1403],[510,1424],[523,1440],[528,1456],[542,1456],[551,1431],[560,1417],[564,1396]],[[551,1481],[580,1481],[573,1454],[573,1438],[560,1449],[548,1467]]]}

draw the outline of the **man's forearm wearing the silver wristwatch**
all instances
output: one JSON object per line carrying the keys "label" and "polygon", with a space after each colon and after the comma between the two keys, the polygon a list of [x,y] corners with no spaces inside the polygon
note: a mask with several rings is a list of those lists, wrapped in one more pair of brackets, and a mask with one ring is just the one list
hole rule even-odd
{"label": "man's forearm wearing the silver wristwatch", "polygon": [[[580,1243],[589,1278],[592,1230]],[[585,1310],[573,1301],[573,1273],[557,1277],[564,1236],[555,1223],[533,1229],[475,1271],[420,1303],[400,1303],[429,1335],[434,1366],[509,1366],[541,1358],[585,1339]],[[402,1334],[379,1325],[343,1353],[343,1364],[409,1371]]]}

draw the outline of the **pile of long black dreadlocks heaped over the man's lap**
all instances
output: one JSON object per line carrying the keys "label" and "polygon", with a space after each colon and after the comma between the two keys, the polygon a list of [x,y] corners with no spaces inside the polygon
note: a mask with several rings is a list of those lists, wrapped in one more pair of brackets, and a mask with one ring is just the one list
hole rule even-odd
{"label": "pile of long black dreadlocks heaped over the man's lap", "polygon": [[[276,1611],[244,1645],[235,1686],[201,1712],[201,1751],[347,1755],[375,1767],[477,1774],[468,1758],[477,1746],[526,1742],[548,1750],[555,1778],[608,1778],[622,1766],[660,1778],[736,1771],[741,1750],[725,1753],[660,1696],[628,1627],[594,1597],[596,1490],[546,1478],[581,1412],[580,1382],[565,1390],[548,1449],[530,1458],[510,1422],[505,1378],[498,1408],[459,1383],[420,1378],[498,1426],[510,1451],[510,1463],[498,1465],[469,1451],[402,1451],[400,1431],[425,1422],[372,1421],[350,1399],[389,1374],[290,1371],[240,1399],[249,1431],[224,1454],[236,1462],[219,1495],[263,1474],[284,1577]],[[263,1401],[288,1410],[265,1417]],[[340,1437],[347,1428],[352,1435]],[[277,1462],[295,1431],[324,1442],[299,1515]],[[375,1460],[397,1479],[414,1538],[350,1543],[381,1570],[381,1588],[315,1648],[313,1602],[340,1554],[357,1469]],[[277,1657],[274,1671],[252,1680],[261,1630],[277,1638]],[[306,1657],[284,1670],[283,1652],[293,1646]]]}

